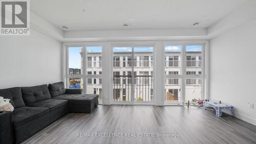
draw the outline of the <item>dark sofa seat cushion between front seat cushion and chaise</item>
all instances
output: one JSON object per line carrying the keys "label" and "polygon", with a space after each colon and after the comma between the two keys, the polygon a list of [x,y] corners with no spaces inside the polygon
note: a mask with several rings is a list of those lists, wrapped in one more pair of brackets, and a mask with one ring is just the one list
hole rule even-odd
{"label": "dark sofa seat cushion between front seat cushion and chaise", "polygon": [[50,112],[52,112],[53,110],[64,106],[64,105],[68,105],[68,100],[54,100],[54,99],[48,99],[45,101],[41,101],[38,103],[33,103],[28,105],[29,107],[42,107],[42,108],[49,108]]}

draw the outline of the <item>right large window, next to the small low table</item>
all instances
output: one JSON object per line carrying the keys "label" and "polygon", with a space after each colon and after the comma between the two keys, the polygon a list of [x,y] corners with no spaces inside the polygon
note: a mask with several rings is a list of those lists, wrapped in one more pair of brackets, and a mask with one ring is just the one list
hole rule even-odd
{"label": "right large window, next to the small low table", "polygon": [[164,50],[165,104],[197,104],[203,99],[203,44],[165,44]]}

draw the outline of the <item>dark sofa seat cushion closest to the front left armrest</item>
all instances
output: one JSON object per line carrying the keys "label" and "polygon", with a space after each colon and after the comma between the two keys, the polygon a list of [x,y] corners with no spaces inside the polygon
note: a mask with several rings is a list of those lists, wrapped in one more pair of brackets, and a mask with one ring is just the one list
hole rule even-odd
{"label": "dark sofa seat cushion closest to the front left armrest", "polygon": [[19,127],[47,113],[49,108],[28,106],[16,108],[12,112],[12,123],[14,127]]}

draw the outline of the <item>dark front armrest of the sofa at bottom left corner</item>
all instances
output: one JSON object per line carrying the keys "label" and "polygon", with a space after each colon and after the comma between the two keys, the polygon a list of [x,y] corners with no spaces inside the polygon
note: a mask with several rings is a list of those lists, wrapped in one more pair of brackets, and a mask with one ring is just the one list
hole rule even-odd
{"label": "dark front armrest of the sofa at bottom left corner", "polygon": [[0,130],[0,143],[13,143],[11,111],[0,111]]}

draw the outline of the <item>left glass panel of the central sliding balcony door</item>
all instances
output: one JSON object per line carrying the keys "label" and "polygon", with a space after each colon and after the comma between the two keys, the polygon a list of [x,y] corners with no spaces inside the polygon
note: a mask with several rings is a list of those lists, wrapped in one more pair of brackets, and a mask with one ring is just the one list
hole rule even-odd
{"label": "left glass panel of the central sliding balcony door", "polygon": [[132,101],[132,47],[113,47],[113,101]]}

